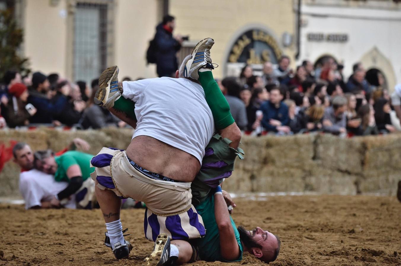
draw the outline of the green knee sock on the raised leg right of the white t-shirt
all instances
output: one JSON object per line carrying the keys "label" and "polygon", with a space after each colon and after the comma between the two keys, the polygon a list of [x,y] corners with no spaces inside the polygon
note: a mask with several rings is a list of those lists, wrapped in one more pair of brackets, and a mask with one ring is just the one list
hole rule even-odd
{"label": "green knee sock on the raised leg right of the white t-shirt", "polygon": [[198,80],[205,91],[206,102],[212,111],[216,129],[221,130],[233,124],[234,118],[231,115],[230,106],[213,78],[212,72],[199,72]]}

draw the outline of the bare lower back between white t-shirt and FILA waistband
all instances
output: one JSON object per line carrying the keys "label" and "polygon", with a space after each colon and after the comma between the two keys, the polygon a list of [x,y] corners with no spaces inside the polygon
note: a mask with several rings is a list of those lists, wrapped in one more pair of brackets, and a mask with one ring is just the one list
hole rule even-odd
{"label": "bare lower back between white t-shirt and FILA waistband", "polygon": [[192,182],[201,169],[195,156],[149,136],[138,136],[127,156],[144,169],[177,181]]}

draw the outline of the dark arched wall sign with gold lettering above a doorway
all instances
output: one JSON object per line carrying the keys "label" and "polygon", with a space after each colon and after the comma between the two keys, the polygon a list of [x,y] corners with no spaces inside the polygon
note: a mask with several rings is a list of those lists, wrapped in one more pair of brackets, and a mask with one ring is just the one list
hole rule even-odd
{"label": "dark arched wall sign with gold lettering above a doorway", "polygon": [[277,64],[282,55],[276,40],[263,30],[248,30],[231,48],[228,62],[262,64],[269,61]]}

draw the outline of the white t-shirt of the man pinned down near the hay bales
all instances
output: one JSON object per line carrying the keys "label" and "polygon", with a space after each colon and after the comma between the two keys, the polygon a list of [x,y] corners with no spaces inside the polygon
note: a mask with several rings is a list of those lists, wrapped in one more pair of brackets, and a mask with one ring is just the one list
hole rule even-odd
{"label": "white t-shirt of the man pinned down near the hay bales", "polygon": [[[67,186],[67,182],[57,182],[54,176],[35,169],[20,173],[20,192],[24,197],[27,210],[33,206],[42,206],[41,200],[50,200]],[[72,196],[71,200],[63,206],[75,209],[75,197]]]}

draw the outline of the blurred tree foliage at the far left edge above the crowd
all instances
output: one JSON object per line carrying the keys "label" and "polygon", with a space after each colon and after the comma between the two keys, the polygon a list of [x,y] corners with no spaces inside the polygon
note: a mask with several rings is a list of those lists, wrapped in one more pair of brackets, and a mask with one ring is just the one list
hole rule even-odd
{"label": "blurred tree foliage at the far left edge above the crowd", "polygon": [[14,9],[0,10],[0,78],[7,70],[29,74],[28,58],[18,55],[18,48],[23,40],[23,31],[14,18]]}

